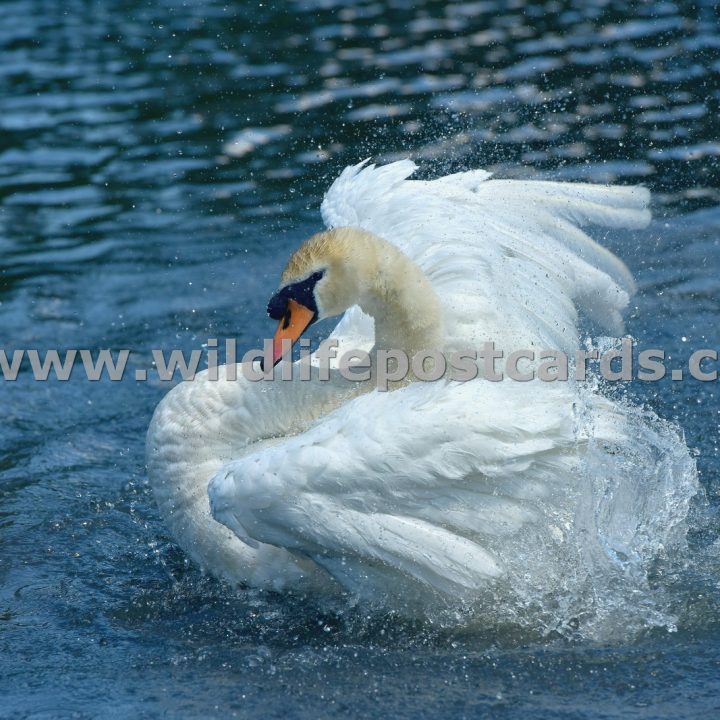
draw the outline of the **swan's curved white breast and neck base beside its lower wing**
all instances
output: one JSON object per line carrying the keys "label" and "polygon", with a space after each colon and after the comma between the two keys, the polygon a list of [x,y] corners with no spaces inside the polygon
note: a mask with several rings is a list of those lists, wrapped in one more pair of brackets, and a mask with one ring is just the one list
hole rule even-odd
{"label": "swan's curved white breast and neck base beside its lower wing", "polygon": [[[203,569],[234,584],[275,590],[327,590],[317,566],[283,548],[240,540],[213,520],[208,481],[238,455],[271,452],[287,435],[305,430],[356,394],[333,374],[318,382],[251,382],[242,364],[198,373],[160,402],[148,429],[146,463],[155,499],[173,537]],[[258,367],[255,366],[255,370]],[[298,372],[295,366],[295,372]]]}

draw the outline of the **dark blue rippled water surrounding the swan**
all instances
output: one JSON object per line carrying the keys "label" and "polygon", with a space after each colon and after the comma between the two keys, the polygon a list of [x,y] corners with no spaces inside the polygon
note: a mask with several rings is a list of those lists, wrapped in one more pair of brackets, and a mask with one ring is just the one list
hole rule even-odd
{"label": "dark blue rippled water surrounding the swan", "polygon": [[[628,5],[634,5],[628,9]],[[123,382],[0,386],[0,717],[677,718],[720,711],[716,383],[627,389],[706,498],[676,630],[591,643],[234,591],[173,545],[143,467],[156,347],[255,347],[345,165],[642,182],[607,244],[629,331],[720,346],[720,22],[711,2],[0,5],[0,345],[132,348]]]}

